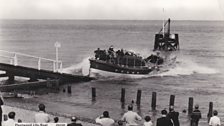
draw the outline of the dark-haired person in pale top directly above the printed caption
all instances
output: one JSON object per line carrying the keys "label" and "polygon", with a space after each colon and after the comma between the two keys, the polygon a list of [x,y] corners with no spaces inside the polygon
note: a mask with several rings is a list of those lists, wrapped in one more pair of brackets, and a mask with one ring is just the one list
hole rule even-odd
{"label": "dark-haired person in pale top directly above the printed caption", "polygon": [[50,117],[45,113],[45,105],[39,104],[39,112],[35,114],[34,122],[35,123],[49,123]]}

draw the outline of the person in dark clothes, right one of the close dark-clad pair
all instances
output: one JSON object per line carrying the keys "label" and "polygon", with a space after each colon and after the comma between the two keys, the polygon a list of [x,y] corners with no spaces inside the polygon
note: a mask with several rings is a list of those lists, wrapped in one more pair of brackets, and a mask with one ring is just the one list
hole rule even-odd
{"label": "person in dark clothes, right one of the close dark-clad pair", "polygon": [[173,121],[174,126],[180,126],[179,122],[179,112],[174,111],[174,106],[170,106],[170,112],[168,117]]}

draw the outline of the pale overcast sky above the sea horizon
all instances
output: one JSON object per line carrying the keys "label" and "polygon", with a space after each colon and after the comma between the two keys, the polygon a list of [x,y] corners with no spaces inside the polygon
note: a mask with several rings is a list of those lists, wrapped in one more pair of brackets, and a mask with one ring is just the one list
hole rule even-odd
{"label": "pale overcast sky above the sea horizon", "polygon": [[164,17],[224,20],[224,0],[0,0],[2,19],[160,20]]}

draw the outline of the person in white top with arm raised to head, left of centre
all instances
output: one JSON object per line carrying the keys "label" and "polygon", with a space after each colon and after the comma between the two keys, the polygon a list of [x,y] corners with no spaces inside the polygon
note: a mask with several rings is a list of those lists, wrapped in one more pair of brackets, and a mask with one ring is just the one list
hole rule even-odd
{"label": "person in white top with arm raised to head, left of centre", "polygon": [[103,115],[96,118],[96,123],[100,124],[101,126],[113,126],[114,120],[110,118],[108,111],[104,111]]}

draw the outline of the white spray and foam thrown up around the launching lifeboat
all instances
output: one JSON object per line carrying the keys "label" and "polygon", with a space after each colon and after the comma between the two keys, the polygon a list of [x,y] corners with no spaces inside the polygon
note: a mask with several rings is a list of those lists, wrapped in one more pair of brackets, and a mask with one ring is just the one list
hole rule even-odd
{"label": "white spray and foam thrown up around the launching lifeboat", "polygon": [[[79,74],[79,75],[89,75],[90,63],[87,57],[82,60],[82,62],[72,65],[70,67],[64,68],[63,73],[69,74]],[[216,74],[218,70],[203,66],[194,62],[191,58],[178,57],[175,61],[172,61],[165,66],[163,66],[160,71],[154,71],[148,75],[127,75],[118,74],[112,72],[105,72],[101,70],[91,70],[91,76],[99,79],[140,79],[140,78],[150,78],[150,77],[161,77],[161,76],[179,76],[179,75],[192,75],[192,74]]]}

